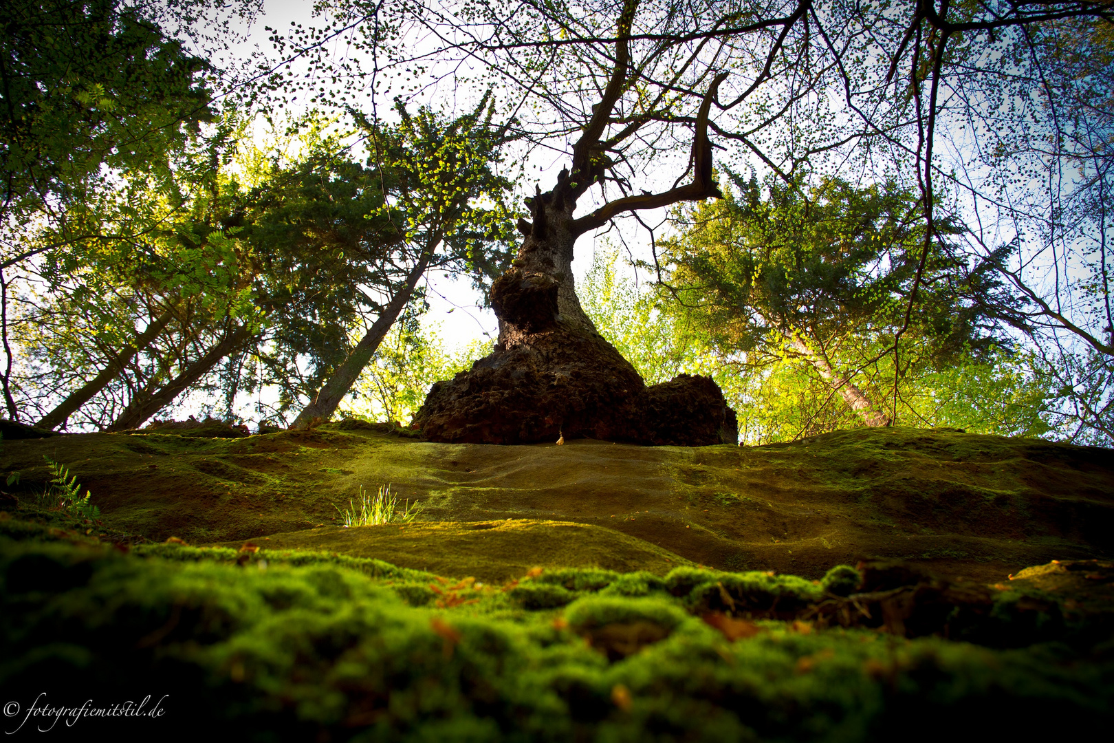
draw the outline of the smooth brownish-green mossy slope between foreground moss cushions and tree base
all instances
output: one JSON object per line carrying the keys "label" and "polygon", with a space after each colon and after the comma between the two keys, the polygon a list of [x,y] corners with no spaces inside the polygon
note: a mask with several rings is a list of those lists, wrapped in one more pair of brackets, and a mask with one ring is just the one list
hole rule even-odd
{"label": "smooth brownish-green mossy slope between foreground moss cushions and tree base", "polygon": [[[118,531],[194,545],[270,536],[457,577],[498,561],[598,564],[619,548],[616,532],[646,542],[655,570],[671,565],[664,550],[671,560],[807,577],[887,557],[994,581],[1114,549],[1110,450],[955,431],[862,429],[698,449],[438,444],[362,422],[240,439],[90,433],[4,442],[0,471],[21,472],[21,491],[8,490],[23,504],[42,490],[43,454],[70,467]],[[387,530],[329,534],[338,506],[383,483],[440,526],[422,527],[417,541]],[[545,536],[481,528],[507,519],[518,532],[537,522]],[[602,528],[547,529],[553,521]],[[556,563],[538,561],[549,559],[535,556],[543,546]]]}

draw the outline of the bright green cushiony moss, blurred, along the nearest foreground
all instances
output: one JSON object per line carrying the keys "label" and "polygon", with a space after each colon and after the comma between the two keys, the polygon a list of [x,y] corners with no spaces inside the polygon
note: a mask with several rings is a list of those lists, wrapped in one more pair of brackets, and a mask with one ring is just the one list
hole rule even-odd
{"label": "bright green cushiony moss, blurred, along the nearest foreground", "polygon": [[[658,590],[554,570],[502,592],[328,558],[0,538],[0,685],[59,703],[157,690],[152,734],[245,741],[881,741],[990,708],[1001,734],[1114,722],[1114,665],[1086,648],[778,620],[731,642],[693,615],[713,579],[733,600],[823,594],[791,576],[676,570]],[[525,610],[526,586],[579,597]]]}

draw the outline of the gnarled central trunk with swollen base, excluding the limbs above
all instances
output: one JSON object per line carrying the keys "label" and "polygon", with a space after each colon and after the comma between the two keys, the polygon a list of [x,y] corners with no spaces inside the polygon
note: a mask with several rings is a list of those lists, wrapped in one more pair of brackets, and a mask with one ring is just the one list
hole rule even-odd
{"label": "gnarled central trunk with swollen base, excluding the limbs above", "polygon": [[583,223],[563,173],[531,202],[515,265],[491,287],[491,355],[436,383],[412,426],[433,441],[528,443],[587,437],[652,444],[735,443],[735,414],[710,378],[647,388],[576,296],[573,245]]}

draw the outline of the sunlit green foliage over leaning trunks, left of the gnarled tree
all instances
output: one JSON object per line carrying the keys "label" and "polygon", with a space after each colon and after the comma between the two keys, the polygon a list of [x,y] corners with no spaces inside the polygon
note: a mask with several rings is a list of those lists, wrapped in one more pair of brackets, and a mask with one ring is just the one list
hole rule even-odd
{"label": "sunlit green foliage over leaning trunks, left of the gnarled tree", "polygon": [[[165,405],[187,389],[231,410],[264,384],[278,389],[282,414],[345,358],[345,329],[383,312],[421,252],[428,267],[481,284],[506,250],[497,201],[506,184],[489,170],[490,133],[477,117],[444,123],[423,110],[372,127],[380,154],[369,167],[321,129],[302,137],[295,162],[277,148],[252,151],[228,121],[170,177],[136,176],[127,190],[70,209],[66,229],[80,223],[86,236],[43,254],[42,289],[13,313],[27,353],[16,375],[25,414],[99,378],[159,316],[166,329],[125,354],[76,426],[137,428],[159,408],[149,401]],[[428,166],[434,155],[441,170]]]}

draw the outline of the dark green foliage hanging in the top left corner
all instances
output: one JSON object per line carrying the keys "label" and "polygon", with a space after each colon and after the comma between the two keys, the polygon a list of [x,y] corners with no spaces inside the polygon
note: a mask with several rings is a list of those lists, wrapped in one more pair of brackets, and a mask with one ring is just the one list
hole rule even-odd
{"label": "dark green foliage hanging in the top left corner", "polygon": [[[159,9],[117,0],[17,0],[0,11],[6,101],[0,113],[0,335],[8,356],[0,381],[12,419],[35,417],[20,410],[27,403],[26,397],[16,400],[21,388],[25,395],[39,392],[27,389],[35,388],[33,378],[13,379],[12,341],[19,339],[11,338],[9,324],[28,314],[27,307],[12,307],[13,300],[31,301],[30,314],[39,317],[88,315],[108,339],[127,338],[131,330],[114,313],[98,312],[88,297],[111,303],[120,289],[115,278],[135,274],[135,256],[119,247],[106,255],[80,243],[101,234],[87,232],[90,212],[121,201],[127,206],[137,182],[173,179],[190,140],[219,118],[213,104],[215,70],[156,20],[207,17],[205,4],[186,0]],[[109,228],[119,246],[143,242],[150,227],[136,218],[149,212],[149,203],[133,206],[128,218]],[[75,266],[72,280],[58,273]],[[76,285],[76,302],[42,307],[37,296],[42,292],[40,268],[47,284],[61,280]],[[65,330],[65,323],[47,324]],[[104,350],[92,354],[102,359]]]}

